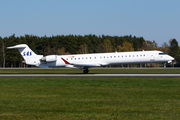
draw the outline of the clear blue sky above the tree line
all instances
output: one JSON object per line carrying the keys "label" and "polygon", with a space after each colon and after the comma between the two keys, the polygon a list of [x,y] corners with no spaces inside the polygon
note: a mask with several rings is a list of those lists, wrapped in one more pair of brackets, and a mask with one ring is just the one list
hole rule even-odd
{"label": "clear blue sky above the tree line", "polygon": [[132,35],[180,44],[180,0],[0,0],[2,38]]}

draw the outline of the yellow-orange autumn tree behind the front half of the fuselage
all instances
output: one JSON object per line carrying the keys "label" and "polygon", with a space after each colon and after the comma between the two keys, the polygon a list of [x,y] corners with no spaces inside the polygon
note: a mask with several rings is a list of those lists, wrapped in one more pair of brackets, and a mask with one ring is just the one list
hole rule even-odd
{"label": "yellow-orange autumn tree behind the front half of the fuselage", "polygon": [[117,51],[118,52],[126,52],[126,51],[134,51],[133,44],[130,42],[125,41],[122,46],[118,45],[117,46]]}

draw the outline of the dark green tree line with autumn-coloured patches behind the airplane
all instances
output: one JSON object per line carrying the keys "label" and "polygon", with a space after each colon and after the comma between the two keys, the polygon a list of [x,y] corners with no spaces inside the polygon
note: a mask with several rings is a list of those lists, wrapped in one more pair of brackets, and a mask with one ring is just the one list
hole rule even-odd
{"label": "dark green tree line with autumn-coloured patches behind the airplane", "polygon": [[[171,45],[172,43],[172,45]],[[7,49],[9,46],[27,44],[36,54],[40,55],[67,55],[86,53],[105,53],[138,50],[161,50],[179,59],[179,46],[175,39],[170,40],[170,45],[164,43],[161,47],[155,41],[144,40],[136,36],[97,36],[97,35],[57,35],[43,36],[24,35],[16,37],[0,37],[0,67],[22,67],[23,58],[17,50]],[[175,47],[176,46],[176,47]],[[174,48],[176,48],[174,50]],[[174,54],[174,53],[177,54]]]}

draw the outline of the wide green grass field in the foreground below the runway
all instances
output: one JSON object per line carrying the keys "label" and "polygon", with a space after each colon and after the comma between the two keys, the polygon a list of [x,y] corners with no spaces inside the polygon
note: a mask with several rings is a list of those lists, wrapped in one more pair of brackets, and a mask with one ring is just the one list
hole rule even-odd
{"label": "wide green grass field in the foreground below the runway", "polygon": [[180,118],[180,78],[1,77],[0,119]]}

